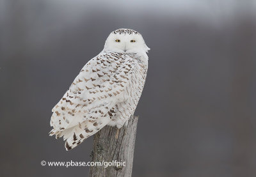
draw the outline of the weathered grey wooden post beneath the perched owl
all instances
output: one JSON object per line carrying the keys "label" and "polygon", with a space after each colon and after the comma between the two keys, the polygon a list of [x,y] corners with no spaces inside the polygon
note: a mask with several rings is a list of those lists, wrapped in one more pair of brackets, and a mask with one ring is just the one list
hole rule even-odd
{"label": "weathered grey wooden post beneath the perched owl", "polygon": [[90,176],[132,175],[132,161],[136,139],[138,116],[131,116],[127,127],[120,129],[106,126],[93,139],[92,162],[125,162],[124,166],[91,166]]}

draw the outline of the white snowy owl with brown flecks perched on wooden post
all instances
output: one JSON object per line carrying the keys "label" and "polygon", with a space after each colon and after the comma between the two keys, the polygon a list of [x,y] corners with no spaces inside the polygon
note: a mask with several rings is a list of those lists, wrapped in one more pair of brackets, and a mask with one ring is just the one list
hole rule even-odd
{"label": "white snowy owl with brown flecks perched on wooden post", "polygon": [[52,109],[50,135],[63,136],[71,150],[106,125],[127,125],[145,83],[148,50],[137,31],[111,32]]}

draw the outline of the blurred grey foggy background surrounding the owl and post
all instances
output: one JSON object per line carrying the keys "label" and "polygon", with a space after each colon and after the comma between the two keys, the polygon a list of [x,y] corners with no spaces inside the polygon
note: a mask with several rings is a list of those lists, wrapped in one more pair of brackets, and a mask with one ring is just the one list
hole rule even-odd
{"label": "blurred grey foggy background surrounding the owl and post", "polygon": [[0,0],[0,176],[88,176],[51,109],[111,31],[150,51],[132,176],[256,176],[256,1]]}

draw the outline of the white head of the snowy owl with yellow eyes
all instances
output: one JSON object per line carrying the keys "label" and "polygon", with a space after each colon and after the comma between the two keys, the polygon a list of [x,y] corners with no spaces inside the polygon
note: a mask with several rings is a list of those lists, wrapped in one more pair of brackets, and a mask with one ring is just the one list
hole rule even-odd
{"label": "white head of the snowy owl with yellow eyes", "polygon": [[104,51],[120,53],[148,52],[142,36],[132,29],[116,29],[108,36]]}

